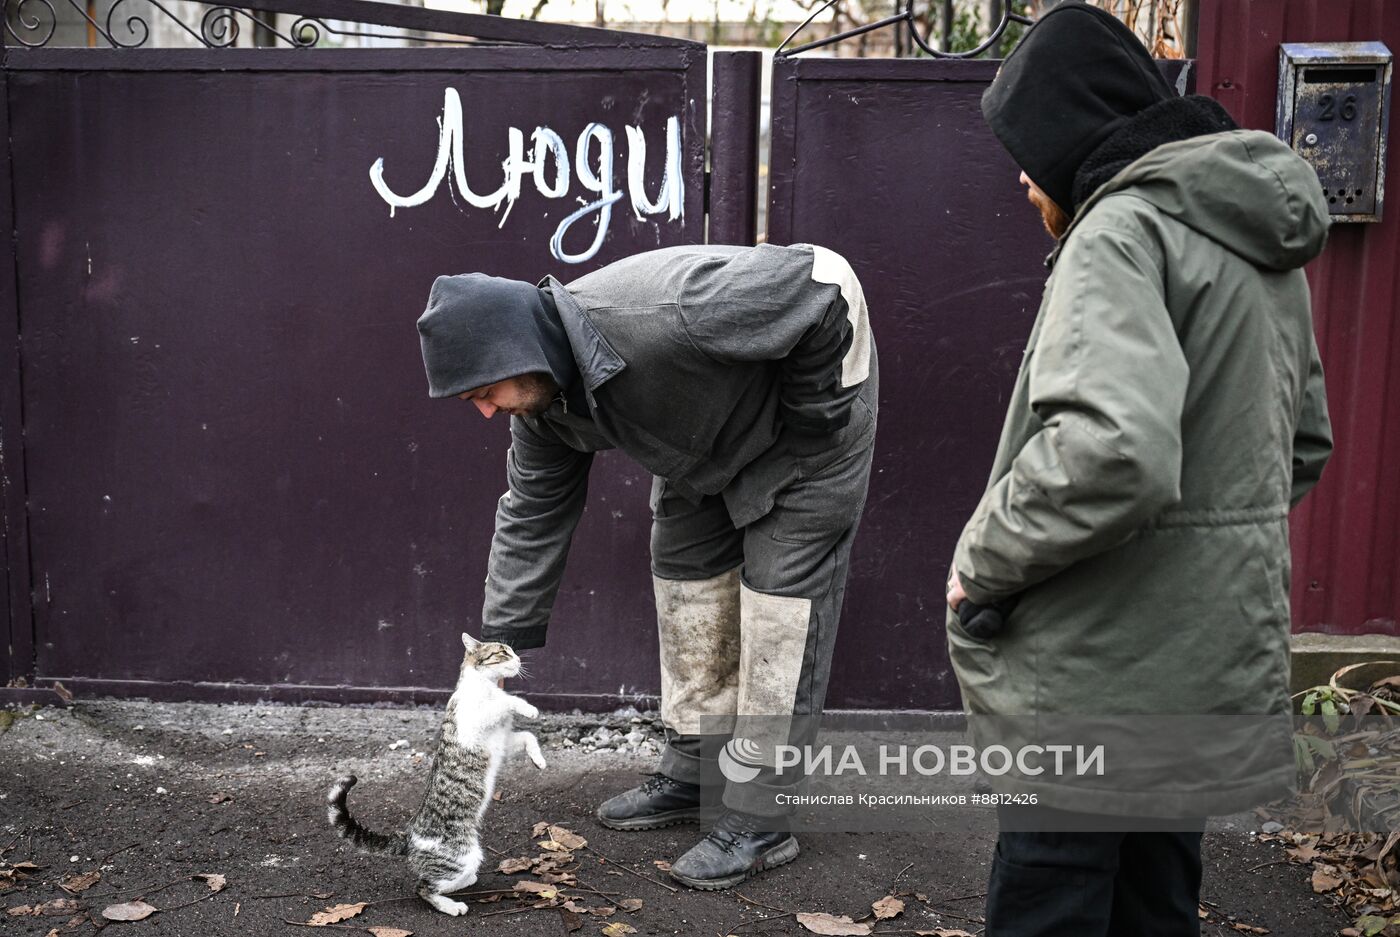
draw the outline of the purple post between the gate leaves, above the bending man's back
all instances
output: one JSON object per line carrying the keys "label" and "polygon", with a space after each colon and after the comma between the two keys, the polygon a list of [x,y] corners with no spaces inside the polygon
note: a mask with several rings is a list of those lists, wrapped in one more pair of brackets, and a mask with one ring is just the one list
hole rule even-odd
{"label": "purple post between the gate leaves, above the bending man's back", "polygon": [[753,245],[759,228],[763,53],[715,52],[710,101],[707,244]]}

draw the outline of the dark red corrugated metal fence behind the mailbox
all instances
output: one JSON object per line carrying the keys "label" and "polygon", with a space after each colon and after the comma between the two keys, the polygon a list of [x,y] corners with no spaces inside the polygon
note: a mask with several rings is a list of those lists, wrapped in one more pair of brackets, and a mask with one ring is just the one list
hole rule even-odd
{"label": "dark red corrugated metal fence behind the mailbox", "polygon": [[[1245,126],[1274,129],[1281,42],[1382,41],[1400,50],[1400,3],[1203,0],[1196,87]],[[1400,146],[1390,206],[1337,224],[1309,266],[1337,451],[1294,511],[1294,629],[1396,634],[1400,619]]]}

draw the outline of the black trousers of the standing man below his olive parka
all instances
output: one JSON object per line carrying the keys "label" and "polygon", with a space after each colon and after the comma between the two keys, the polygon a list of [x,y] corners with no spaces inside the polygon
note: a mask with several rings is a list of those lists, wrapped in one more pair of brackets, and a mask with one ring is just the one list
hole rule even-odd
{"label": "black trousers of the standing man below his olive parka", "polygon": [[1200,832],[1061,832],[1072,814],[1053,832],[1014,832],[1029,824],[1001,818],[986,937],[1200,937]]}

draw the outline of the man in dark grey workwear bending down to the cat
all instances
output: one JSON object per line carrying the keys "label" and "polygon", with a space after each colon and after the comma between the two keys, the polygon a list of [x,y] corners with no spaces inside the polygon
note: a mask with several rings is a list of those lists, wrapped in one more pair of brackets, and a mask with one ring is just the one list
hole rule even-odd
{"label": "man in dark grey workwear bending down to the cat", "polygon": [[599,821],[697,819],[742,738],[757,754],[671,874],[715,889],[795,859],[771,745],[801,744],[822,712],[875,440],[875,346],[850,265],[812,245],[679,247],[567,286],[444,276],[419,333],[431,396],[511,416],[483,640],[545,643],[594,452],[654,475],[668,742]]}

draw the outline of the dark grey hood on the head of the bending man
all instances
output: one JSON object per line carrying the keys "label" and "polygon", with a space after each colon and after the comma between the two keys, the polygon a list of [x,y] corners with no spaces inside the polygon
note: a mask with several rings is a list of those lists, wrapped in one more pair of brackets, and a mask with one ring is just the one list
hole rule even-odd
{"label": "dark grey hood on the head of the bending man", "polygon": [[567,388],[577,374],[554,298],[521,280],[440,276],[419,317],[419,340],[433,398],[532,373]]}

